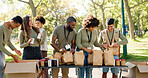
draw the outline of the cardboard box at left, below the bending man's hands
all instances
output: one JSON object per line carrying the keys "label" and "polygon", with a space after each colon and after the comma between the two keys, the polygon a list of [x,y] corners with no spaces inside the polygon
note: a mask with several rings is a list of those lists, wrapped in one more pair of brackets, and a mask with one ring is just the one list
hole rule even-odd
{"label": "cardboard box at left, below the bending man's hands", "polygon": [[21,63],[11,61],[6,64],[4,73],[7,78],[37,78],[40,72],[39,60],[22,60]]}

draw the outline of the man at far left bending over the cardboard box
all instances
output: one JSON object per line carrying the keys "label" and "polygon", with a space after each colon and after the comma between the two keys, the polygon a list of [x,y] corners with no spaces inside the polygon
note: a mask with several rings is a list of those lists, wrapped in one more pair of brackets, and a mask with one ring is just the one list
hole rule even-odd
{"label": "man at far left bending over the cardboard box", "polygon": [[22,53],[17,50],[10,41],[10,36],[12,30],[18,28],[22,24],[22,18],[20,16],[13,17],[10,21],[5,21],[0,25],[0,78],[5,78],[4,73],[2,73],[3,67],[5,65],[5,54],[11,56],[15,62],[19,62],[19,57],[9,52],[5,45],[7,44],[12,51],[15,51],[19,56]]}

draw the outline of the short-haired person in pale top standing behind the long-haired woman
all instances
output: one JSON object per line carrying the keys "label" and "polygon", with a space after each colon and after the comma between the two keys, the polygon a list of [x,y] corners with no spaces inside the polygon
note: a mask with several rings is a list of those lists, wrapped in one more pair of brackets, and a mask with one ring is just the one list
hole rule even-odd
{"label": "short-haired person in pale top standing behind the long-haired woman", "polygon": [[43,29],[43,25],[45,24],[45,19],[42,16],[37,16],[34,19],[36,26],[40,29],[40,33],[39,34],[44,34],[43,38],[42,38],[42,45],[41,47],[41,52],[42,52],[42,56],[43,58],[47,57],[47,33],[46,30]]}

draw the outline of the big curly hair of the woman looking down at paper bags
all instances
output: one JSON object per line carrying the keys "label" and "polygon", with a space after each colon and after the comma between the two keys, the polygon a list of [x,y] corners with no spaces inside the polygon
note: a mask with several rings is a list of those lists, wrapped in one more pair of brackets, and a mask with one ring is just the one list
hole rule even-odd
{"label": "big curly hair of the woman looking down at paper bags", "polygon": [[94,17],[93,15],[88,15],[82,23],[82,26],[84,28],[89,28],[89,27],[98,27],[99,25],[99,20]]}

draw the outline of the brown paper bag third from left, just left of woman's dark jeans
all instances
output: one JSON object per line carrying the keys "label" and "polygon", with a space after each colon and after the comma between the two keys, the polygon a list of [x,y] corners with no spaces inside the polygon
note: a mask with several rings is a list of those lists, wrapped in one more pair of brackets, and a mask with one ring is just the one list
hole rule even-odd
{"label": "brown paper bag third from left, just left of woman's dark jeans", "polygon": [[75,52],[74,54],[74,62],[75,62],[75,65],[84,65],[84,53],[83,51],[80,51],[80,52]]}

